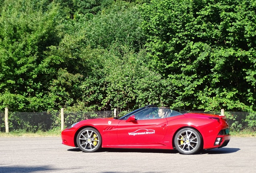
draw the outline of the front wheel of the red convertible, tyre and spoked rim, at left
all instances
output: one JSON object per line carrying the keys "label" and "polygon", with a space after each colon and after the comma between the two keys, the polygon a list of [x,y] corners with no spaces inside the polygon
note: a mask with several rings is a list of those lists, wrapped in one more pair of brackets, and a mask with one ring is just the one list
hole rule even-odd
{"label": "front wheel of the red convertible, tyre and spoked rim, at left", "polygon": [[101,143],[102,139],[99,131],[91,127],[82,129],[76,137],[76,144],[79,149],[86,153],[97,151],[101,147]]}

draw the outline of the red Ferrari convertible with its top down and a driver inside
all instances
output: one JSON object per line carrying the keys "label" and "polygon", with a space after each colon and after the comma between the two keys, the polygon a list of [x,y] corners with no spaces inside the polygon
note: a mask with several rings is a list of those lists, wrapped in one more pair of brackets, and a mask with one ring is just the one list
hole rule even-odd
{"label": "red Ferrari convertible with its top down and a driver inside", "polygon": [[119,119],[88,119],[62,131],[62,144],[84,152],[102,148],[176,149],[194,154],[225,147],[230,140],[225,116],[180,113],[148,105]]}

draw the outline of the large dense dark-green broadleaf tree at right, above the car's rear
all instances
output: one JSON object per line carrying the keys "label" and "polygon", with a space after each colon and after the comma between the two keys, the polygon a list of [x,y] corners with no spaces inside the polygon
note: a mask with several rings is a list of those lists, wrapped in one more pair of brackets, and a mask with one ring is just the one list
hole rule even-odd
{"label": "large dense dark-green broadleaf tree at right, above the car's rear", "polygon": [[175,89],[176,107],[255,110],[256,3],[152,0],[142,28],[152,68]]}

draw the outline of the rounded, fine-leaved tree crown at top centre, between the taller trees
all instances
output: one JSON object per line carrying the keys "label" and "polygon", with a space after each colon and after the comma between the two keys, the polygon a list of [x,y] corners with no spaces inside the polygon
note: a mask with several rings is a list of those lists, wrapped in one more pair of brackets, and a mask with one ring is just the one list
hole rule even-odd
{"label": "rounded, fine-leaved tree crown at top centre, between the taller trees", "polygon": [[92,48],[101,46],[108,49],[118,42],[138,51],[145,39],[141,22],[138,5],[117,1],[88,21],[83,30],[86,42]]}

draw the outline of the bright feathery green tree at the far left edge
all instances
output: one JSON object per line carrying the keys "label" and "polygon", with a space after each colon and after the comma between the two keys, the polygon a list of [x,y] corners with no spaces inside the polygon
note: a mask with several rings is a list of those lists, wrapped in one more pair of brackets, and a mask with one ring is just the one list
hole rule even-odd
{"label": "bright feathery green tree at the far left edge", "polygon": [[[6,97],[12,95],[19,100],[14,111],[43,110],[47,82],[52,80],[44,74],[43,60],[48,46],[60,40],[58,5],[47,0],[5,0],[2,9],[0,107],[9,107]],[[36,107],[32,107],[35,100]]]}

